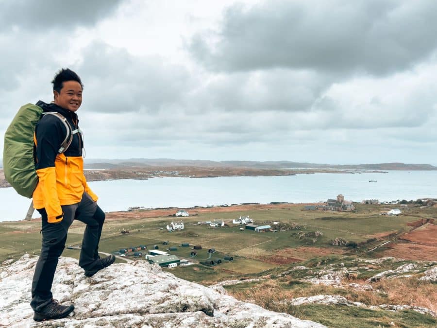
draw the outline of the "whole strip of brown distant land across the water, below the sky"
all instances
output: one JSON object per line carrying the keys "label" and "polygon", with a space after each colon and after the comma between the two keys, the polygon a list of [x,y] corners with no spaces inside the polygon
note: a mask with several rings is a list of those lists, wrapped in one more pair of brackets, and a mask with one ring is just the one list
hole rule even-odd
{"label": "whole strip of brown distant land across the water, below the sky", "polygon": [[[178,176],[213,178],[218,176],[284,176],[314,173],[387,173],[386,171],[436,171],[430,164],[358,164],[332,165],[290,161],[209,161],[181,159],[86,159],[85,176],[88,181],[148,179]],[[0,188],[10,187],[0,169]]]}

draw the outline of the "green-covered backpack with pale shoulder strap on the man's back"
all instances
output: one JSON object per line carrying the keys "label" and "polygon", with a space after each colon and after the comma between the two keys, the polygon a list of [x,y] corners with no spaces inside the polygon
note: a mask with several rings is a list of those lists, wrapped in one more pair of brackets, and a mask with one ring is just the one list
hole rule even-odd
{"label": "green-covered backpack with pale shoulder strap on the man's back", "polygon": [[35,127],[41,117],[48,114],[59,118],[67,129],[67,136],[58,151],[58,153],[63,153],[73,140],[70,124],[61,114],[57,112],[43,113],[43,109],[34,104],[21,106],[4,134],[4,176],[20,195],[27,198],[32,198],[38,184],[34,157]]}

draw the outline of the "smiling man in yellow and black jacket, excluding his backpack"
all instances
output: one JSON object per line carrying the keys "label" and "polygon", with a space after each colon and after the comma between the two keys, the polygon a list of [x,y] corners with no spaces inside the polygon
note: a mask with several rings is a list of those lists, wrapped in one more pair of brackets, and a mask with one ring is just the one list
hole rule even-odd
{"label": "smiling man in yellow and black jacket, excluding his backpack", "polygon": [[[51,293],[58,258],[73,220],[86,224],[79,259],[85,276],[92,276],[115,261],[114,255],[101,259],[98,253],[105,214],[84,176],[84,142],[76,115],[82,104],[82,81],[72,70],[61,69],[51,83],[54,102],[37,103],[50,114],[43,114],[34,134],[39,180],[33,202],[42,217],[41,254],[32,281],[31,306],[35,321],[64,318],[74,310],[73,305],[60,305]],[[66,145],[67,139],[69,145]]]}

